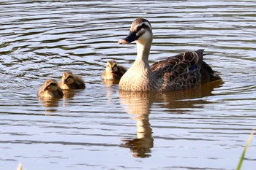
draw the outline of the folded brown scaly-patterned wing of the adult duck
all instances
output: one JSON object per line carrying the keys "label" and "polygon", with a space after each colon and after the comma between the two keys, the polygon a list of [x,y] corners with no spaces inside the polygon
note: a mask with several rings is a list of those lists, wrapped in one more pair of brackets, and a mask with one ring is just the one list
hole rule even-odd
{"label": "folded brown scaly-patterned wing of the adult duck", "polygon": [[203,63],[203,49],[181,53],[154,63],[152,71],[158,79],[163,79],[163,90],[184,89],[199,85],[200,69]]}

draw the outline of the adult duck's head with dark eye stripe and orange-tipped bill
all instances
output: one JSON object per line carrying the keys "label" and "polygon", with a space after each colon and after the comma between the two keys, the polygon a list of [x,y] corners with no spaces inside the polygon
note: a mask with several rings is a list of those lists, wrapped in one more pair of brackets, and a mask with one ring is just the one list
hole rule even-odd
{"label": "adult duck's head with dark eye stripe and orange-tipped bill", "polygon": [[149,21],[145,18],[137,18],[132,22],[128,36],[124,39],[121,39],[118,43],[129,44],[136,41],[140,44],[144,44],[146,42],[152,42],[152,37],[153,33]]}

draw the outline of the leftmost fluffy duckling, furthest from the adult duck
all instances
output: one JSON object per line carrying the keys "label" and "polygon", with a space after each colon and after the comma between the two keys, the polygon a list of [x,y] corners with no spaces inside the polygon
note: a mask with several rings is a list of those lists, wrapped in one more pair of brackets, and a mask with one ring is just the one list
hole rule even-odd
{"label": "leftmost fluffy duckling, furthest from the adult duck", "polygon": [[58,82],[54,79],[49,79],[39,88],[37,95],[43,98],[61,98],[63,93],[58,86]]}

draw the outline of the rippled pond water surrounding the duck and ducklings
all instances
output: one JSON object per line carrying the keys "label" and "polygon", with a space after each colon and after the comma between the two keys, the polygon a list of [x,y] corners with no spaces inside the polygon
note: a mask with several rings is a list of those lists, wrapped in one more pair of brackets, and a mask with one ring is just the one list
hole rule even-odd
{"label": "rippled pond water surrounding the duck and ducklings", "polygon": [[[236,169],[256,120],[255,1],[0,2],[0,169]],[[135,18],[151,21],[150,62],[204,48],[224,84],[121,93],[102,82]],[[86,80],[40,101],[48,78]],[[256,169],[255,137],[243,169]]]}

